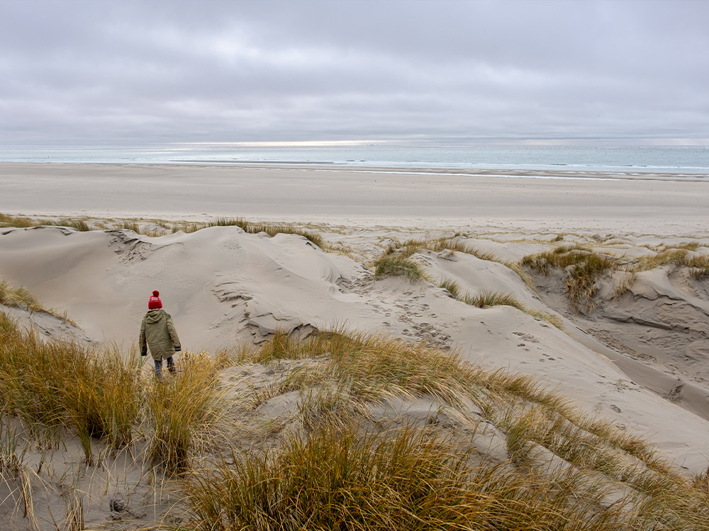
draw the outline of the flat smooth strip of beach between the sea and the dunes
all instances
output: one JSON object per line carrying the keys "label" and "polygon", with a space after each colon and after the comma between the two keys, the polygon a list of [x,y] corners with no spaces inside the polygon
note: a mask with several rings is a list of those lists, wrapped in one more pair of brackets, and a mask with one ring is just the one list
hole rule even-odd
{"label": "flat smooth strip of beach between the sea and the dunes", "polygon": [[[527,178],[530,173],[0,163],[0,212],[209,215],[524,233],[705,234],[709,226],[706,178],[574,171],[545,172],[554,179]],[[568,179],[580,175],[602,180]]]}

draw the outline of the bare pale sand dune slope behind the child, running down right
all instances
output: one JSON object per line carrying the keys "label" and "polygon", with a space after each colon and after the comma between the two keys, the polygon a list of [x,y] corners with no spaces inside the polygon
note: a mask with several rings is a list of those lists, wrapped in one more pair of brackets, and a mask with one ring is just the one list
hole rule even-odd
{"label": "bare pale sand dune slope behind the child, running down right", "polygon": [[[355,254],[374,256],[396,233],[355,227],[324,234],[351,246]],[[555,245],[535,234],[517,242],[483,236],[470,241],[506,259]],[[556,307],[574,317],[554,302],[553,287],[542,302],[501,263],[447,251],[421,251],[413,258],[430,277],[456,280],[471,294],[510,293],[530,309],[556,314]],[[0,278],[33,290],[45,306],[67,309],[90,338],[115,341],[124,350],[137,338],[147,297],[155,289],[187,350],[215,352],[262,341],[276,329],[306,335],[338,325],[454,348],[472,362],[539,377],[587,411],[647,435],[688,472],[707,468],[709,421],[703,397],[708,393],[702,380],[686,384],[698,392],[691,393],[684,408],[659,394],[666,380],[691,379],[691,367],[681,365],[679,358],[672,367],[661,360],[643,363],[596,341],[570,321],[564,320],[562,331],[513,307],[471,307],[428,282],[375,280],[362,263],[325,253],[302,236],[269,238],[238,227],[155,238],[127,230],[0,229]],[[657,278],[640,280],[633,287],[637,293],[649,286],[655,292],[661,285],[669,290]],[[674,301],[682,299],[678,290],[670,295]],[[698,295],[682,300],[695,303],[692,312],[705,310]],[[619,308],[630,311],[632,304]],[[706,341],[701,320],[692,319],[686,327],[697,329],[697,341]]]}

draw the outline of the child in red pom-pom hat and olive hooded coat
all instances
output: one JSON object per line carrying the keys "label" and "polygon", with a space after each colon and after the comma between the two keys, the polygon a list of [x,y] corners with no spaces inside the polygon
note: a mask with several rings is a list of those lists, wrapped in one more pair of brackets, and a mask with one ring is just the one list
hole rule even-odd
{"label": "child in red pom-pom hat and olive hooded coat", "polygon": [[147,355],[147,348],[150,347],[150,354],[155,361],[155,376],[162,379],[162,358],[167,360],[167,370],[174,374],[175,365],[172,355],[182,350],[177,337],[177,330],[172,322],[170,314],[162,309],[160,292],[155,290],[152,296],[147,299],[147,314],[140,324],[140,355]]}

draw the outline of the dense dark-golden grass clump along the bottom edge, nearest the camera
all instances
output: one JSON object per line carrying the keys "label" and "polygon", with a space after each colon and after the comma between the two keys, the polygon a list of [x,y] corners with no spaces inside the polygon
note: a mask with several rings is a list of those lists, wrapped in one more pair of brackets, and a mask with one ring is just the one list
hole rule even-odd
{"label": "dense dark-golden grass clump along the bottom edge, nearest the camera", "polygon": [[320,428],[277,455],[217,464],[186,484],[183,528],[620,530],[605,525],[628,520],[568,496],[569,477],[475,467],[450,441],[412,428],[386,435]]}

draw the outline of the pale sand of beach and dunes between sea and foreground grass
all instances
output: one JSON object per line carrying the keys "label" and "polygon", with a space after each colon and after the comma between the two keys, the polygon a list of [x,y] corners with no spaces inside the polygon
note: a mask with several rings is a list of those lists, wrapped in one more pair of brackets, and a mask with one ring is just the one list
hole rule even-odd
{"label": "pale sand of beach and dunes between sea and foreground grass", "polygon": [[[0,309],[47,336],[123,352],[135,348],[152,290],[160,290],[192,352],[259,345],[276,331],[384,333],[532,375],[584,411],[647,438],[684,473],[703,473],[709,287],[691,264],[709,255],[709,181],[545,176],[0,164],[1,213],[82,216],[94,229],[0,228],[0,280],[27,287],[76,326]],[[173,234],[168,223],[220,217],[297,224],[319,234],[325,249],[298,234],[240,227]],[[138,232],[121,225],[128,221]],[[442,238],[445,245],[431,243]],[[375,274],[377,258],[404,256],[411,240],[420,243],[406,258],[423,271],[420,280]],[[582,302],[569,299],[570,268],[542,274],[525,262],[564,246],[613,264]],[[673,250],[683,261],[664,259]],[[490,293],[510,295],[516,306],[463,302],[463,294]]]}

